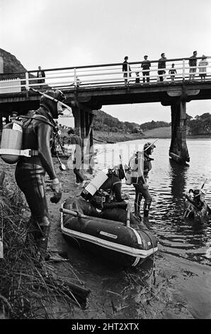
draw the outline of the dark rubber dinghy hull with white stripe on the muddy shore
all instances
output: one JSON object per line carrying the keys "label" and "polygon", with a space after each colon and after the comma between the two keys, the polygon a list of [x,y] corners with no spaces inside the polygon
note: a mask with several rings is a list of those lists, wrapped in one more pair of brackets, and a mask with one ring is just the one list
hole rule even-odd
{"label": "dark rubber dinghy hull with white stripe on the muddy shore", "polygon": [[[72,204],[67,200],[62,208],[72,210]],[[156,238],[147,228],[126,227],[114,220],[61,212],[61,230],[68,242],[76,241],[92,254],[123,267],[138,266],[158,250]]]}

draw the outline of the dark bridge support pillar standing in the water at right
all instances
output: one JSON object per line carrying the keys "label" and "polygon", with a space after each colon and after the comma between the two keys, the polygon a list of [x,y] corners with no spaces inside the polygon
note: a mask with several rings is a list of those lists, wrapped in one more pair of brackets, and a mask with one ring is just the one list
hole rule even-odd
{"label": "dark bridge support pillar standing in the water at right", "polygon": [[186,144],[186,102],[179,99],[171,104],[171,145],[169,156],[178,163],[190,161]]}

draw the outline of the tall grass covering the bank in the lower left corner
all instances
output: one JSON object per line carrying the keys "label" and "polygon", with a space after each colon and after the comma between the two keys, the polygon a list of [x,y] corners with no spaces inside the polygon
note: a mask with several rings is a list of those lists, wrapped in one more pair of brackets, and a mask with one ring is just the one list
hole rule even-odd
{"label": "tall grass covering the bank in the lower left corner", "polygon": [[81,306],[84,299],[74,296],[47,262],[38,262],[33,241],[26,244],[23,207],[21,192],[9,183],[5,185],[1,173],[0,230],[3,230],[4,258],[0,259],[0,318],[62,318],[64,313],[71,318],[74,301]]}

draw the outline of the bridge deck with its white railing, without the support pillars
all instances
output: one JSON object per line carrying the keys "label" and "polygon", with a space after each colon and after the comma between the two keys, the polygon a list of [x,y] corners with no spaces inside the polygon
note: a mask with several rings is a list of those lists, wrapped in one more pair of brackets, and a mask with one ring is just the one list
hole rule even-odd
{"label": "bridge deck with its white railing, without the support pillars", "polygon": [[[105,104],[161,102],[168,105],[179,97],[186,102],[191,99],[210,99],[211,66],[207,65],[205,68],[204,81],[200,77],[201,69],[195,67],[195,80],[190,81],[188,60],[189,58],[166,60],[166,68],[162,69],[165,70],[165,74],[162,75],[163,82],[158,81],[161,77],[158,71],[161,69],[157,67],[157,60],[151,61],[149,83],[143,83],[144,70],[141,68],[141,62],[130,63],[127,77],[122,74],[121,63],[47,69],[45,82],[42,83],[38,83],[36,70],[13,73],[13,80],[8,81],[1,80],[0,75],[0,114],[2,116],[11,113],[13,109],[38,107],[40,96],[28,91],[29,87],[42,91],[58,88],[67,95],[67,104],[70,105],[73,100],[77,100],[93,109],[100,109]],[[169,74],[171,63],[175,63],[177,71],[173,82]],[[135,83],[137,71],[140,83]],[[128,83],[126,86],[125,79]]]}

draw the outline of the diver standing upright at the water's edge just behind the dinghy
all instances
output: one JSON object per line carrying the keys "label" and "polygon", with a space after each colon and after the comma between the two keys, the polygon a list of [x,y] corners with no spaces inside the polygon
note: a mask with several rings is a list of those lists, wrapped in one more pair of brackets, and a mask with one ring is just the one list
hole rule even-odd
{"label": "diver standing upright at the water's edge just behind the dinghy", "polygon": [[[132,171],[132,185],[135,188],[135,215],[142,220],[140,215],[141,201],[144,197],[144,222],[148,222],[149,208],[152,203],[152,196],[149,193],[149,188],[146,182],[148,173],[152,169],[151,161],[154,160],[149,156],[152,154],[156,146],[152,143],[147,142],[144,144],[144,171],[139,175],[139,166],[141,166],[142,152],[137,151],[129,161],[129,166]],[[140,168],[142,170],[142,168]]]}

